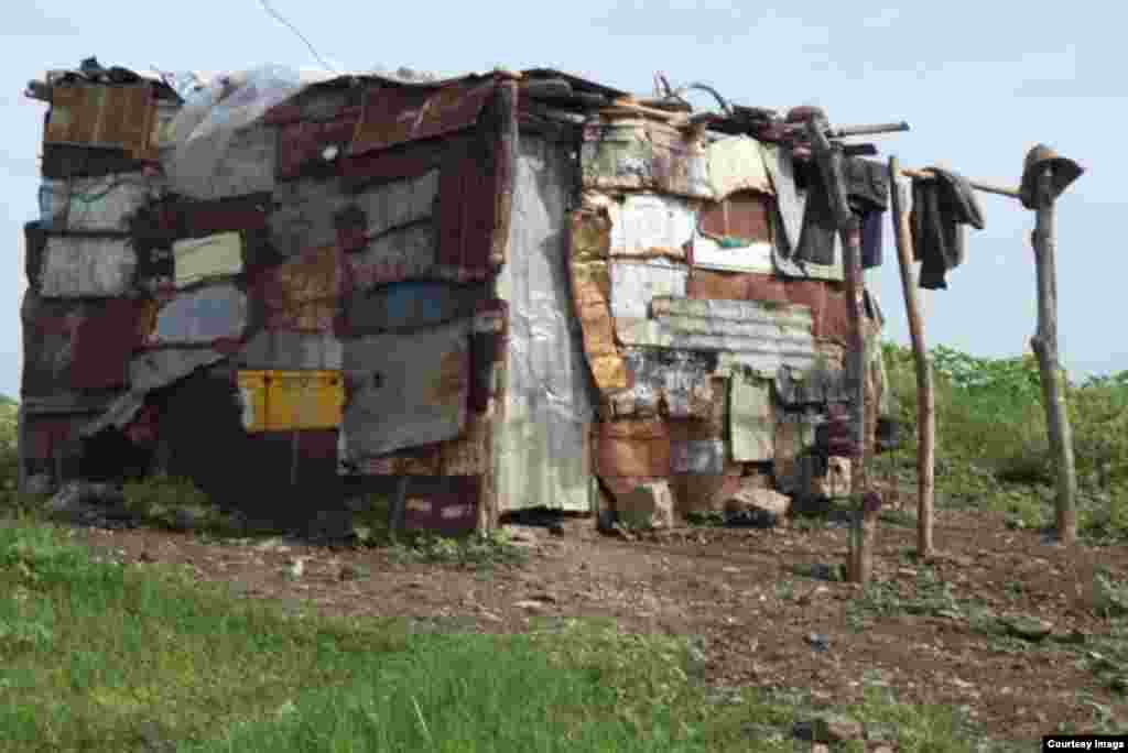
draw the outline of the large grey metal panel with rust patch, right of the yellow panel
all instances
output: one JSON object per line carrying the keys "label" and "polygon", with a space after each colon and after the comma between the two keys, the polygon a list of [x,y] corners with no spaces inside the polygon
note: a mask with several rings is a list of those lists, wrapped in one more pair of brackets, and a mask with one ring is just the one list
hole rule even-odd
{"label": "large grey metal panel with rust patch, right of the yellow panel", "polygon": [[345,457],[362,460],[458,436],[469,398],[470,320],[345,343]]}

